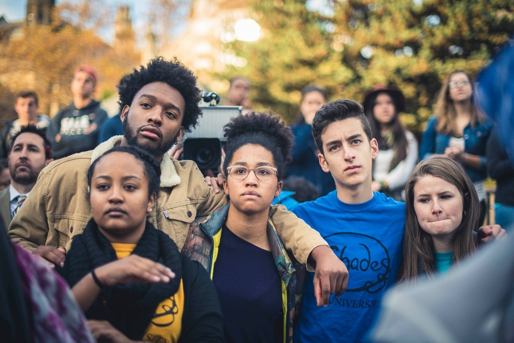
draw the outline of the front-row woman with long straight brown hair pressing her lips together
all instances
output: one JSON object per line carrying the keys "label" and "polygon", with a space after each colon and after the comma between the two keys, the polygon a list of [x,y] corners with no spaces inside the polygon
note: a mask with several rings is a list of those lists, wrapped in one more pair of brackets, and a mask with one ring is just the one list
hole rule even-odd
{"label": "front-row woman with long straight brown hair pressing her lips together", "polygon": [[[446,157],[421,161],[405,187],[406,219],[399,279],[444,273],[473,254],[480,202],[462,166]],[[487,228],[486,228],[487,229]],[[500,229],[499,236],[505,230]]]}

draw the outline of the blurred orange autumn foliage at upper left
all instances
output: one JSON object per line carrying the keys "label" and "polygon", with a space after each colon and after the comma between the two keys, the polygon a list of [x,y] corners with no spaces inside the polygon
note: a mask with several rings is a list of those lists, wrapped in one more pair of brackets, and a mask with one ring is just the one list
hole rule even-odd
{"label": "blurred orange autumn foliage at upper left", "polygon": [[99,74],[96,98],[115,94],[118,81],[140,57],[137,52],[121,56],[98,36],[98,30],[109,24],[99,13],[106,11],[91,7],[91,2],[62,3],[53,13],[52,25],[24,26],[17,37],[0,41],[3,85],[13,93],[34,89],[40,112],[53,115],[70,102],[74,70],[85,63]]}

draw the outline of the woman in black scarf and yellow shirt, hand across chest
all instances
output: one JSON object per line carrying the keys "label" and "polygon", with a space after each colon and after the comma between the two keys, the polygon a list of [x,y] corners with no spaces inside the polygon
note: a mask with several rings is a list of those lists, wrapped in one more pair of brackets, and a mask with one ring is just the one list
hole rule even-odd
{"label": "woman in black scarf and yellow shirt, hand across chest", "polygon": [[222,342],[223,317],[206,270],[148,220],[160,166],[136,148],[90,166],[91,219],[60,271],[97,340]]}

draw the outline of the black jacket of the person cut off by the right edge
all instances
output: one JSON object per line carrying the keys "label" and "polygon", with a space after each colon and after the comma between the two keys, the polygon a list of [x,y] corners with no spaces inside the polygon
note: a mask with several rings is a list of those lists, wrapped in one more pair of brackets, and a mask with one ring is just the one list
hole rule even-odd
{"label": "black jacket of the person cut off by the right edge", "polygon": [[496,131],[487,141],[486,153],[487,172],[497,184],[495,202],[514,206],[514,166],[509,159],[509,152],[500,145]]}

